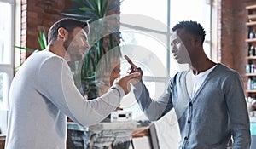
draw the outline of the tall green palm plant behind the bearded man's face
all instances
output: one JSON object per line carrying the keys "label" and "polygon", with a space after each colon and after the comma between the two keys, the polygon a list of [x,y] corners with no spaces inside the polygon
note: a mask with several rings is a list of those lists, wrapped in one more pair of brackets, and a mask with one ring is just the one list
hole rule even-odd
{"label": "tall green palm plant behind the bearded man's face", "polygon": [[[108,11],[115,9],[121,2],[116,0],[73,0],[75,6],[74,9],[68,9],[63,14],[77,18],[79,20],[86,20],[90,23],[89,43],[90,50],[84,54],[84,60],[71,64],[71,67],[81,68],[73,70],[75,72],[75,83],[80,89],[83,95],[87,95],[88,99],[93,99],[98,96],[99,85],[104,84],[99,80],[96,80],[96,66],[110,49],[118,49],[118,52],[105,59],[105,70],[108,72],[111,60],[113,58],[119,58],[121,56],[119,50],[119,19],[116,17],[106,17]],[[109,24],[110,21],[114,21]],[[108,41],[106,44],[106,40]],[[79,80],[81,80],[79,82]]]}

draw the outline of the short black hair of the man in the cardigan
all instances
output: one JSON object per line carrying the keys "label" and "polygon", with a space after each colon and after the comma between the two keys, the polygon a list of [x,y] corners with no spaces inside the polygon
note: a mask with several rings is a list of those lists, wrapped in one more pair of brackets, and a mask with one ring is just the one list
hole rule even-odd
{"label": "short black hair of the man in the cardigan", "polygon": [[172,31],[175,32],[177,29],[184,28],[186,31],[201,37],[201,42],[204,43],[206,32],[205,29],[201,26],[201,24],[196,21],[180,21],[177,25],[172,28]]}

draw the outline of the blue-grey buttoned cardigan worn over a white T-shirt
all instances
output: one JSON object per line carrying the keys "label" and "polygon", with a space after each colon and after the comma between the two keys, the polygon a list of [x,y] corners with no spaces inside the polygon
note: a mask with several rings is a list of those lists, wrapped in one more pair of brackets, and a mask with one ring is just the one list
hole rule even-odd
{"label": "blue-grey buttoned cardigan worn over a white T-shirt", "polygon": [[239,74],[218,64],[190,99],[187,73],[178,72],[158,100],[150,99],[143,83],[135,85],[134,94],[147,117],[158,120],[174,107],[183,149],[224,149],[231,136],[234,149],[249,149],[250,123]]}

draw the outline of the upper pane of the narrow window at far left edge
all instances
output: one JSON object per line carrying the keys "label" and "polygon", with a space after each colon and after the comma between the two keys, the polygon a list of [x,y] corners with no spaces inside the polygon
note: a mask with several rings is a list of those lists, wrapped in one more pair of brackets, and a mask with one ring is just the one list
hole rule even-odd
{"label": "upper pane of the narrow window at far left edge", "polygon": [[0,2],[0,64],[11,63],[11,4]]}

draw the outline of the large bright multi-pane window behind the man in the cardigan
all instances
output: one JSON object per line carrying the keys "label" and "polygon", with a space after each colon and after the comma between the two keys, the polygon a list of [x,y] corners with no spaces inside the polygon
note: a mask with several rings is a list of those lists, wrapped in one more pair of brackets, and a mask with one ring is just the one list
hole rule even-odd
{"label": "large bright multi-pane window behind the man in the cardigan", "polygon": [[[204,49],[211,57],[211,4],[206,0],[125,0],[121,3],[122,54],[127,54],[143,69],[143,82],[152,98],[157,99],[169,77],[183,70],[172,57],[170,35],[172,27],[182,20],[195,20],[207,32]],[[209,1],[210,2],[210,1]],[[122,60],[121,73],[128,63]],[[143,119],[134,96],[127,95],[121,107]]]}

